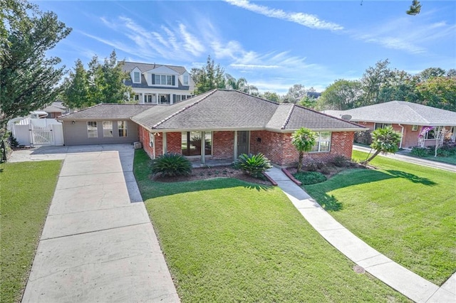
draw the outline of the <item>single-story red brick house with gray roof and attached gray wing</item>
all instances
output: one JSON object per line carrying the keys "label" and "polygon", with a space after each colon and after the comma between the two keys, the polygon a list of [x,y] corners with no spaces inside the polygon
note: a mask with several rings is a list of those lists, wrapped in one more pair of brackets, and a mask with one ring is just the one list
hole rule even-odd
{"label": "single-story red brick house with gray roof and attached gray wing", "polygon": [[152,159],[179,153],[203,164],[206,159],[233,160],[239,154],[259,152],[274,164],[294,164],[298,153],[291,134],[301,127],[318,134],[308,157],[351,158],[353,133],[366,130],[306,107],[235,90],[211,90],[173,105],[95,105],[59,119],[64,134],[71,136],[66,144],[139,140]]}

